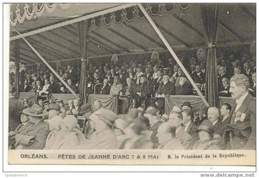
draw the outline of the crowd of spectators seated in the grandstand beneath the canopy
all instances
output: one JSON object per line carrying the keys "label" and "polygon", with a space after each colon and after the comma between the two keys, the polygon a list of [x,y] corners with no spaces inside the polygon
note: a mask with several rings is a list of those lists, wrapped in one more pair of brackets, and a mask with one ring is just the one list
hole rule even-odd
{"label": "crowd of spectators seated in the grandstand beneath the canopy", "polygon": [[[249,78],[249,92],[256,97],[256,63],[248,54],[240,59],[234,55],[219,57],[217,64],[219,96],[231,97],[229,81],[234,75],[245,74]],[[198,63],[195,58],[188,62],[180,58],[193,81],[205,94],[206,59]],[[188,66],[189,65],[189,66]],[[56,72],[76,93],[80,87],[80,68],[70,65],[57,67]],[[118,64],[99,63],[87,68],[88,92],[95,94],[120,95],[130,98],[132,107],[154,106],[164,108],[164,98],[170,95],[197,95],[188,78],[179,65],[171,58],[166,61],[147,60],[143,63],[131,60]],[[14,83],[14,74],[10,74],[10,83]],[[200,87],[203,86],[203,87]],[[20,72],[20,92],[38,92],[43,100],[50,93],[71,93],[66,86],[51,73],[46,66],[34,70],[29,68]]]}

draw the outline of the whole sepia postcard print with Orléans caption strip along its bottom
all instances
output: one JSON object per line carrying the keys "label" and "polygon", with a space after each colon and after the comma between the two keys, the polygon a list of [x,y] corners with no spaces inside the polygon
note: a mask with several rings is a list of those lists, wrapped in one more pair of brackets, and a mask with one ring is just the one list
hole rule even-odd
{"label": "whole sepia postcard print with Orl\u00e9ans caption strip along its bottom", "polygon": [[256,165],[256,3],[9,5],[8,164]]}

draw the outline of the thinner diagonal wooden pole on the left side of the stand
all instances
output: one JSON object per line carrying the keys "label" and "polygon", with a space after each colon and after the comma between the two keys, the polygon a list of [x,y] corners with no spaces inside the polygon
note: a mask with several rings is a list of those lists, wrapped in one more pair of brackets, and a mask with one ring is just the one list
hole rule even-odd
{"label": "thinner diagonal wooden pole on the left side of the stand", "polygon": [[[20,35],[20,32],[19,32],[15,27],[13,27],[13,28],[14,28],[15,31]],[[25,43],[27,43],[27,44],[30,46],[30,48],[34,51],[34,53],[36,53],[36,54],[39,56],[39,58],[43,61],[43,63],[46,64],[46,66],[51,70],[51,72],[53,72],[53,73],[56,75],[56,77],[69,89],[69,91],[70,91],[78,100],[80,100],[80,97],[75,93],[75,91],[72,90],[72,88],[69,87],[69,85],[57,74],[57,72],[48,64],[48,62],[42,57],[42,55],[39,54],[39,52],[30,44],[30,42],[27,41],[27,40],[25,39],[25,37],[23,37],[23,36],[21,36],[21,38],[25,41]]]}

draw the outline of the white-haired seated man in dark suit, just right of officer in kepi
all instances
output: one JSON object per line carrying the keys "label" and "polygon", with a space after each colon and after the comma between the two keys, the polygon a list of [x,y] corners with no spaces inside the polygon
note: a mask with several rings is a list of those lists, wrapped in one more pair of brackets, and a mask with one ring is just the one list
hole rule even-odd
{"label": "white-haired seated man in dark suit, just right of officer in kepi", "polygon": [[154,98],[149,99],[149,105],[155,107],[155,102],[158,103],[157,109],[162,111],[165,105],[165,97],[169,97],[170,95],[174,95],[175,87],[172,82],[169,81],[169,76],[163,76],[163,82],[160,83],[156,96]]}

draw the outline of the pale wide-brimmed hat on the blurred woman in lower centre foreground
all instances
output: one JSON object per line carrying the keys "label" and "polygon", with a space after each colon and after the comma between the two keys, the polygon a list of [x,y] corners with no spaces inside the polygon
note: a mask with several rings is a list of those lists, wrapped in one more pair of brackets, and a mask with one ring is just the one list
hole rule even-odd
{"label": "pale wide-brimmed hat on the blurred woman in lower centre foreground", "polygon": [[115,127],[114,122],[117,119],[117,116],[111,110],[100,108],[98,109],[98,111],[95,111],[91,116],[90,116],[90,119],[92,119],[93,121],[95,120],[95,117],[96,117],[104,121],[106,124],[112,127]]}

